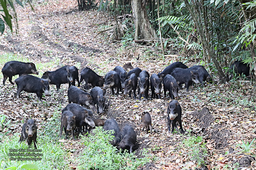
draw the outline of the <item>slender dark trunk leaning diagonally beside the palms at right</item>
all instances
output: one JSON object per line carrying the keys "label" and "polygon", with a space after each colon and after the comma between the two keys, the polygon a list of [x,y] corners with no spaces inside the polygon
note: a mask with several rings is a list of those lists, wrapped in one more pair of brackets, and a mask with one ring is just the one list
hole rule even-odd
{"label": "slender dark trunk leaning diagonally beside the palms at right", "polygon": [[214,65],[215,65],[215,67],[216,67],[217,70],[218,70],[218,76],[219,76],[220,82],[221,82],[221,83],[225,83],[225,82],[228,81],[229,79],[228,79],[228,77],[225,76],[225,74],[223,73],[222,68],[220,67],[219,62],[217,61],[214,52],[211,50],[211,47],[210,47],[209,43],[207,42],[207,40],[206,40],[206,38],[205,38],[205,34],[204,34],[204,30],[203,30],[203,24],[202,24],[202,22],[201,22],[200,19],[197,21],[197,18],[196,18],[196,16],[195,16],[195,13],[196,13],[197,11],[192,11],[193,8],[192,8],[192,6],[188,3],[188,0],[184,0],[184,2],[185,2],[185,4],[186,4],[186,8],[188,9],[188,11],[189,11],[189,13],[190,13],[191,17],[193,18],[193,21],[194,21],[194,23],[195,23],[195,25],[196,25],[196,29],[197,29],[197,31],[198,31],[198,33],[199,33],[199,35],[200,35],[201,42],[204,44],[204,47],[205,47],[205,49],[206,49],[206,52],[211,56],[212,61],[213,61]]}

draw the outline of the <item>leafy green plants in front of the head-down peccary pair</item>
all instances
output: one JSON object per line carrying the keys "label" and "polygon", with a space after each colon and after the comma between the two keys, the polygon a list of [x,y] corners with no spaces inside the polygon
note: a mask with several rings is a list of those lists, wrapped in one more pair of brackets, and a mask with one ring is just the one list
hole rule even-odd
{"label": "leafy green plants in front of the head-down peccary pair", "polygon": [[153,161],[153,155],[149,155],[146,150],[141,151],[142,156],[140,158],[126,150],[124,153],[119,152],[108,142],[112,141],[113,138],[102,127],[97,127],[87,137],[81,137],[80,144],[83,145],[84,149],[77,159],[77,169],[130,170]]}

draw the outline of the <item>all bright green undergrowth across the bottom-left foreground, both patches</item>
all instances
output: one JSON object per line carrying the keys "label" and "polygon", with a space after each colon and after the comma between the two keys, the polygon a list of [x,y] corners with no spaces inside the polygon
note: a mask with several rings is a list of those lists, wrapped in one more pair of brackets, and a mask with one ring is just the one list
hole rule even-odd
{"label": "all bright green undergrowth across the bottom-left foreground, both patches", "polygon": [[[28,144],[26,141],[19,143],[20,132],[13,136],[4,136],[0,142],[0,167],[1,169],[23,169],[24,167],[33,167],[31,169],[69,169],[68,164],[71,158],[69,150],[65,149],[64,144],[59,142],[60,134],[60,111],[61,106],[54,106],[55,111],[51,117],[43,121],[42,128],[37,129],[37,149],[42,150],[39,156],[11,156],[10,153],[30,153],[27,152]],[[7,121],[7,120],[5,120]],[[63,136],[65,133],[63,132]],[[71,138],[71,134],[69,135]],[[72,139],[71,139],[72,140]],[[102,127],[91,130],[87,136],[80,136],[79,147],[83,148],[80,155],[73,162],[77,169],[137,169],[149,162],[154,162],[155,157],[150,155],[145,149],[141,150],[140,156],[134,153],[124,151],[119,152],[109,141],[113,140],[111,134],[106,133]],[[16,149],[17,151],[11,151]],[[23,149],[24,151],[19,151]],[[31,148],[34,149],[33,143]],[[70,148],[72,149],[72,148]],[[76,149],[73,149],[74,151]],[[34,160],[18,160],[20,158],[33,158]],[[16,158],[16,160],[11,160]],[[36,168],[35,168],[36,167]],[[26,168],[25,168],[26,169]],[[29,168],[28,168],[29,169]]]}

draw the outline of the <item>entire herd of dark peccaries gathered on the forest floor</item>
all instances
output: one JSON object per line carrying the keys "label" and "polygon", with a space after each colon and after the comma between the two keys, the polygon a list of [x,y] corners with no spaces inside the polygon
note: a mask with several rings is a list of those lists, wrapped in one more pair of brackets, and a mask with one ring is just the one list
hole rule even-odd
{"label": "entire herd of dark peccaries gathered on the forest floor", "polygon": [[[250,67],[243,64],[241,61],[236,61],[231,67],[237,74],[245,74],[249,76]],[[249,70],[248,70],[249,69]],[[149,86],[151,88],[151,98],[161,99],[162,83],[164,87],[164,97],[166,91],[169,91],[169,96],[172,99],[167,103],[167,121],[169,133],[177,129],[180,133],[184,133],[181,124],[181,107],[177,100],[179,89],[185,84],[188,91],[189,86],[193,83],[201,84],[204,86],[204,81],[211,83],[212,77],[204,68],[204,66],[196,65],[188,68],[181,62],[175,62],[167,66],[162,72],[152,74],[149,76],[148,72],[136,67],[128,73],[120,66],[116,66],[114,70],[109,71],[105,78],[97,75],[93,70],[86,67],[80,73],[80,81],[78,77],[78,69],[75,66],[63,66],[55,71],[44,72],[42,78],[38,78],[29,74],[37,74],[36,66],[34,63],[23,63],[18,61],[9,61],[4,64],[2,69],[4,76],[3,84],[7,78],[12,82],[12,76],[19,75],[15,80],[17,85],[17,99],[19,99],[20,92],[36,93],[38,101],[42,102],[43,93],[45,96],[49,94],[49,84],[56,85],[57,91],[60,89],[61,84],[68,83],[68,105],[62,110],[60,137],[64,128],[66,137],[72,131],[73,139],[76,140],[74,131],[78,131],[78,135],[82,135],[82,131],[89,132],[88,127],[103,126],[104,130],[114,130],[114,136],[111,144],[116,146],[117,149],[127,149],[130,153],[133,151],[133,146],[136,143],[137,137],[131,125],[125,124],[122,129],[119,128],[115,119],[94,119],[93,112],[96,112],[95,105],[97,105],[97,114],[104,114],[105,112],[105,99],[106,90],[111,88],[112,95],[114,95],[114,88],[117,88],[117,95],[122,92],[136,100],[136,89],[138,86],[139,100],[148,100]],[[248,74],[248,75],[247,75]],[[233,77],[233,74],[231,74]],[[150,79],[150,81],[149,81]],[[84,80],[84,90],[75,86],[75,80],[78,82],[78,87]],[[88,92],[88,83],[92,85],[90,93]],[[104,85],[104,86],[103,86]],[[151,116],[147,111],[141,114],[141,122],[143,122],[146,133],[150,130],[152,133]],[[177,128],[176,122],[179,122],[180,129]],[[170,129],[172,123],[172,131]],[[85,130],[84,130],[85,128]],[[109,131],[110,133],[110,131]],[[34,142],[36,147],[36,121],[33,119],[25,120],[22,127],[20,142],[27,140],[28,145]]]}

